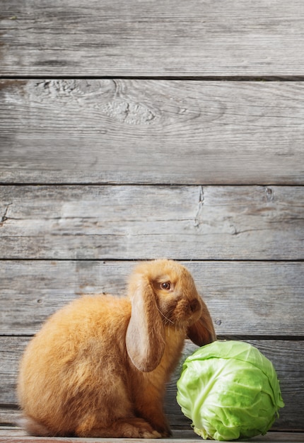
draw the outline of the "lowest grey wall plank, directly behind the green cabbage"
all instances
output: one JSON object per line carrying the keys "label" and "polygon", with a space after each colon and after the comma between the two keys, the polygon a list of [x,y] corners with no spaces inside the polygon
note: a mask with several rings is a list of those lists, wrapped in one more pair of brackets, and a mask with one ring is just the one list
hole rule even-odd
{"label": "lowest grey wall plank, directly behind the green cabbage", "polygon": [[[29,338],[0,337],[0,404],[16,405],[16,376],[18,361],[21,352],[28,343]],[[280,418],[275,422],[276,430],[304,430],[303,428],[303,407],[304,407],[304,374],[301,365],[303,364],[303,341],[286,340],[251,340],[274,364],[278,374],[285,407],[281,410]],[[191,343],[185,347],[186,355],[192,353],[197,347]],[[173,380],[168,385],[168,395],[166,397],[166,410],[173,427],[187,427],[187,420],[180,412],[180,407],[175,401],[176,381],[179,377],[179,369]],[[7,415],[5,415],[7,420]],[[1,410],[0,410],[1,422]],[[6,421],[7,422],[7,421]]]}

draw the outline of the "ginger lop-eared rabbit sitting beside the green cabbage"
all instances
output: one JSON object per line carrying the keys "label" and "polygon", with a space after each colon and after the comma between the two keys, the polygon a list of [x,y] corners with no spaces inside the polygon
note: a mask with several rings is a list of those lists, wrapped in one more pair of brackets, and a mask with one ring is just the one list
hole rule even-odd
{"label": "ginger lop-eared rabbit sitting beside the green cabbage", "polygon": [[165,383],[185,338],[216,340],[192,275],[174,260],[139,263],[127,297],[83,295],[54,313],[21,359],[23,426],[44,437],[160,438]]}

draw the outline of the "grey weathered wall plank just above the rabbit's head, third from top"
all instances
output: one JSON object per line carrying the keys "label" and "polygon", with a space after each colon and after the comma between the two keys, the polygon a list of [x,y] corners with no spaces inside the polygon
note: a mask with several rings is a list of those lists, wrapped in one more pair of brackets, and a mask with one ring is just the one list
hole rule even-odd
{"label": "grey weathered wall plank just above the rabbit's head, third from top", "polygon": [[300,187],[1,186],[1,258],[302,259]]}

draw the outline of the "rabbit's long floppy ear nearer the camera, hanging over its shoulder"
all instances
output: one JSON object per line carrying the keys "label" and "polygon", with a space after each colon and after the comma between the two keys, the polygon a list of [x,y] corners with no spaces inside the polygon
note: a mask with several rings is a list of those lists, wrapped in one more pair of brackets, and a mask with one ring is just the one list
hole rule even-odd
{"label": "rabbit's long floppy ear nearer the camera, hanging over its shoulder", "polygon": [[148,278],[141,276],[136,284],[130,284],[130,291],[131,318],[126,336],[127,352],[137,369],[151,372],[163,357],[165,328]]}

